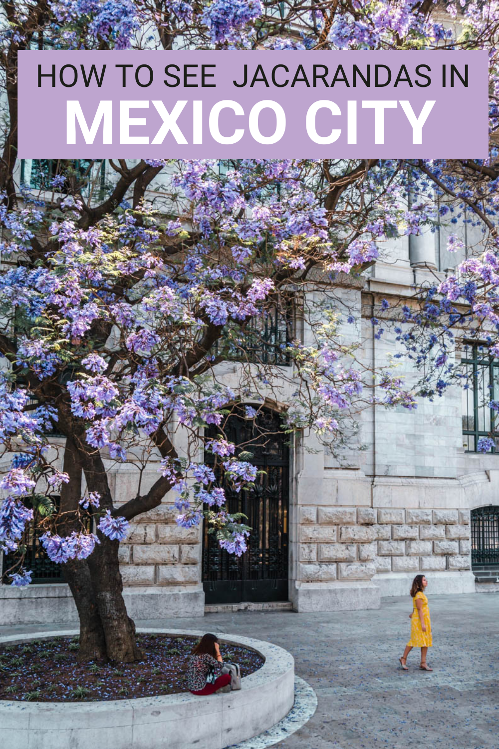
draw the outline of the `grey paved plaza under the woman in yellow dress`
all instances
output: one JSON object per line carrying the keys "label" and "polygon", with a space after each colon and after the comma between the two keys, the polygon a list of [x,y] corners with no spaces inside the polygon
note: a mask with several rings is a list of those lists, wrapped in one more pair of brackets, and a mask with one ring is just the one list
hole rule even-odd
{"label": "grey paved plaza under the woman in yellow dress", "polygon": [[[138,625],[204,628],[290,650],[319,703],[282,749],[499,749],[499,594],[429,592],[429,606],[433,673],[419,670],[419,650],[408,672],[398,668],[410,630],[408,596],[385,598],[373,611],[212,613]],[[0,634],[53,628],[1,627]]]}

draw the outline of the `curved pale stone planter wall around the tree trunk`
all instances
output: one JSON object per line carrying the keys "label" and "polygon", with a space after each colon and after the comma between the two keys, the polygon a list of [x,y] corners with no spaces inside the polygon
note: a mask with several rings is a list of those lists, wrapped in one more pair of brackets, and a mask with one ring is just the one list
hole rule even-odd
{"label": "curved pale stone planter wall around the tree trunk", "polygon": [[[151,634],[204,632],[144,629]],[[78,631],[0,637],[0,645],[48,640]],[[242,679],[240,691],[197,697],[190,692],[135,700],[36,703],[0,700],[2,749],[224,749],[269,729],[290,712],[295,661],[286,650],[250,637],[221,634],[224,643],[263,655],[259,670]]]}

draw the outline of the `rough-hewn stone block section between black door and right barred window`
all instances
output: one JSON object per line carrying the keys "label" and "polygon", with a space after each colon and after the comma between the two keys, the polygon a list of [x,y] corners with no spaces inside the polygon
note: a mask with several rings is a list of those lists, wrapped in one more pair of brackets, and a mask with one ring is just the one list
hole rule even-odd
{"label": "rough-hewn stone block section between black door and right barred window", "polygon": [[470,569],[470,513],[457,509],[300,508],[304,583]]}

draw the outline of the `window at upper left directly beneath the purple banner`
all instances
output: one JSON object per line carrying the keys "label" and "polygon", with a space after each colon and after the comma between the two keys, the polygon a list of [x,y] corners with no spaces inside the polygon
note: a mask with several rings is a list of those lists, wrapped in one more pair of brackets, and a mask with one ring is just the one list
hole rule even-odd
{"label": "window at upper left directly beneath the purple banner", "polygon": [[[52,180],[61,175],[65,178],[64,184],[52,187]],[[47,190],[52,192],[70,192],[70,178],[79,183],[82,195],[102,199],[105,192],[105,167],[104,160],[92,162],[90,159],[22,159],[21,161],[21,184],[31,189]]]}

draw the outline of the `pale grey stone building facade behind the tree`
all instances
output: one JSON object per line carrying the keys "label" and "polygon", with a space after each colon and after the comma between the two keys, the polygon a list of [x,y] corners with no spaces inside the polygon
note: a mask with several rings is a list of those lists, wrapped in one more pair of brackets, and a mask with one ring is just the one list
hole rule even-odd
{"label": "pale grey stone building facade behind the tree", "polygon": [[[460,261],[443,249],[446,231],[442,226],[435,234],[393,241],[372,276],[345,289],[345,303],[357,318],[345,335],[357,336],[364,363],[380,366],[397,350],[390,333],[376,339],[370,324],[381,300],[407,296],[414,282],[444,278]],[[468,248],[479,241],[469,225],[462,231]],[[304,330],[305,342],[307,335]],[[224,366],[221,376],[228,382],[236,368]],[[414,377],[407,364],[401,373]],[[291,393],[280,398],[279,403],[269,398],[269,408],[285,407]],[[480,507],[499,506],[499,455],[482,455],[470,449],[468,438],[463,441],[464,408],[457,386],[435,401],[420,400],[414,412],[367,408],[343,461],[313,436],[306,444],[293,439],[289,500],[276,538],[285,537],[286,600],[294,610],[378,607],[382,596],[407,595],[418,572],[427,575],[434,594],[475,590],[472,515]],[[156,479],[158,466],[152,458],[143,488]],[[124,502],[135,494],[137,472],[128,465],[112,470],[114,499]],[[178,527],[175,514],[167,495],[138,518],[121,545],[126,601],[137,618],[203,616],[209,580],[203,580],[202,529]],[[266,551],[272,554],[272,548]],[[272,592],[266,595],[266,602],[271,600]],[[27,589],[0,586],[0,601],[0,623],[69,622],[76,616],[64,581]]]}

